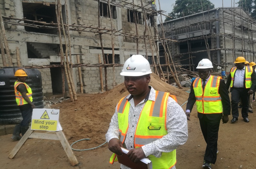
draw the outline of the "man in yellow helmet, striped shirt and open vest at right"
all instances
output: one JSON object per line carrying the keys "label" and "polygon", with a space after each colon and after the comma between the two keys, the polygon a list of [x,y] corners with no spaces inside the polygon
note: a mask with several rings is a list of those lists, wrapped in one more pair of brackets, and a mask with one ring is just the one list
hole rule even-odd
{"label": "man in yellow helmet, striped shirt and open vest at right", "polygon": [[251,66],[244,66],[244,57],[237,57],[234,68],[230,70],[228,75],[226,87],[231,92],[231,107],[233,119],[231,122],[238,120],[238,102],[242,100],[242,117],[245,122],[249,122],[248,111],[249,111],[249,96],[253,94],[256,88],[256,73]]}

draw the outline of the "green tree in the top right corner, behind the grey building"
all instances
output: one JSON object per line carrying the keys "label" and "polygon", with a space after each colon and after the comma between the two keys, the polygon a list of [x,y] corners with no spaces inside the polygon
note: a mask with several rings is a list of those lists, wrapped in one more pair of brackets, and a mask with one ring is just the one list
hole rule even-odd
{"label": "green tree in the top right corner, behind the grey building", "polygon": [[256,0],[239,0],[236,4],[249,12],[252,18],[256,18]]}

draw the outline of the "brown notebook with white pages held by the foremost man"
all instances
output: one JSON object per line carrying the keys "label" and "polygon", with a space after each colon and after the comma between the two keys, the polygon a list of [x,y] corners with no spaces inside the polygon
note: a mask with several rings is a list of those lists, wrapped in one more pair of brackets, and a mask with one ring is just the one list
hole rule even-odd
{"label": "brown notebook with white pages held by the foremost man", "polygon": [[148,159],[148,158],[143,158],[141,159],[139,162],[134,163],[128,156],[127,153],[129,152],[129,150],[121,147],[124,155],[123,156],[118,156],[117,155],[117,159],[118,162],[130,167],[132,169],[152,169],[152,162]]}

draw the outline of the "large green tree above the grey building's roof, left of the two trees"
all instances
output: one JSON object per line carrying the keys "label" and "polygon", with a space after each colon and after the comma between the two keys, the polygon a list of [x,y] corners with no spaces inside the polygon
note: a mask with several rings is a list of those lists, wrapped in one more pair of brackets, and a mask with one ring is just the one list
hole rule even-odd
{"label": "large green tree above the grey building's roof, left of the two trees", "polygon": [[[202,12],[202,6],[203,11],[214,8],[214,4],[212,4],[209,0],[176,0],[173,10],[171,13],[168,13],[168,16],[175,19],[183,17],[183,13],[184,16],[192,15],[198,12]],[[166,17],[164,21],[168,20],[171,20],[171,18]]]}

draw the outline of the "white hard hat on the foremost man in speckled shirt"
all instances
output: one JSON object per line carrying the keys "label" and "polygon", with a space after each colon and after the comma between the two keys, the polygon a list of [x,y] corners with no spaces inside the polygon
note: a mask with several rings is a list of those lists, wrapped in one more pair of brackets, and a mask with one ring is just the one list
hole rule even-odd
{"label": "white hard hat on the foremost man in speckled shirt", "polygon": [[143,76],[152,73],[150,64],[142,55],[132,55],[124,62],[121,76]]}

